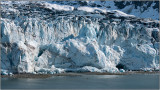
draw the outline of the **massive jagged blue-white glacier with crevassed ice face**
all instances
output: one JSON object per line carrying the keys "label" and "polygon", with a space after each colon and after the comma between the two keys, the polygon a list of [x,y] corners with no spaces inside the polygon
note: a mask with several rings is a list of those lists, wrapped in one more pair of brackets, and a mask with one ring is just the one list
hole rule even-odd
{"label": "massive jagged blue-white glacier with crevassed ice face", "polygon": [[159,70],[158,21],[55,5],[1,4],[2,74]]}

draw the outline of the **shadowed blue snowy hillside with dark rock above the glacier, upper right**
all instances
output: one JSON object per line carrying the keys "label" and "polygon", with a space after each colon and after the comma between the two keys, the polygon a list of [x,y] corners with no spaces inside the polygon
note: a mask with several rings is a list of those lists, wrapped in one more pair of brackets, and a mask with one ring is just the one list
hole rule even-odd
{"label": "shadowed blue snowy hillside with dark rock above the glacier, upper right", "polygon": [[104,0],[93,0],[93,1],[52,1],[50,3],[56,3],[60,5],[71,5],[74,7],[89,6],[98,7],[107,10],[120,10],[127,14],[135,15],[140,18],[152,18],[159,20],[159,1],[104,1]]}

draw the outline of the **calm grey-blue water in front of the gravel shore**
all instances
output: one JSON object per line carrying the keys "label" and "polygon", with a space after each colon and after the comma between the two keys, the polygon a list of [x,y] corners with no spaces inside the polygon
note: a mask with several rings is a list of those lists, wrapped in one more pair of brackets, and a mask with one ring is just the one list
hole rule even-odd
{"label": "calm grey-blue water in front of the gravel shore", "polygon": [[2,89],[158,89],[159,75],[82,75],[2,78]]}

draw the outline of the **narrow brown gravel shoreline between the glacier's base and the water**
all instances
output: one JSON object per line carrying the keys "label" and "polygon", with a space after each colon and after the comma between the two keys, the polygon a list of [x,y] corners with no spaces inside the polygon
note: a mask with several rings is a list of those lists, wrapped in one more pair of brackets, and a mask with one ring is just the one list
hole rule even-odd
{"label": "narrow brown gravel shoreline between the glacier's base and the water", "polygon": [[1,78],[49,78],[52,76],[81,76],[81,75],[132,75],[132,74],[159,74],[160,71],[127,71],[123,73],[99,73],[99,72],[67,72],[60,74],[13,74],[13,75],[1,75]]}

